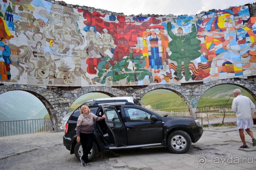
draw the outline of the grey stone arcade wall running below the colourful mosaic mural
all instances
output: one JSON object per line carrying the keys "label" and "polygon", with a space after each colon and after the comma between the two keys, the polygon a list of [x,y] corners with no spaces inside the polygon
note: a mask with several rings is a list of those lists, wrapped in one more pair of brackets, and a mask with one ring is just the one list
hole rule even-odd
{"label": "grey stone arcade wall running below the colourful mosaic mural", "polygon": [[[109,96],[133,96],[143,97],[146,93],[156,89],[166,89],[177,93],[187,104],[187,107],[192,116],[196,116],[197,103],[200,97],[209,88],[216,85],[222,84],[233,84],[244,88],[250,92],[251,95],[256,99],[256,79],[225,79],[207,82],[200,85],[150,85],[141,89],[126,89],[120,90],[111,87],[83,87],[75,90],[49,90],[45,88],[38,88],[37,86],[28,85],[1,85],[0,94],[13,91],[13,90],[24,90],[34,94],[38,97],[46,106],[49,114],[52,117],[53,125],[58,129],[61,126],[63,117],[67,114],[69,107],[72,103],[80,96],[89,92],[102,92]],[[47,104],[49,103],[49,104]],[[62,103],[68,103],[68,105],[59,105]]]}

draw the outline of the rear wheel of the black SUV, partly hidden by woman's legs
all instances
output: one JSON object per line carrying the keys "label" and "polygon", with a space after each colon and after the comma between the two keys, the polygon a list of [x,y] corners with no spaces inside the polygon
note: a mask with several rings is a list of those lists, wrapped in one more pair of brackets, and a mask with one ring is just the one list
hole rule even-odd
{"label": "rear wheel of the black SUV, partly hidden by woman's legs", "polygon": [[[98,154],[98,147],[95,142],[92,144],[92,149],[90,150],[90,153],[88,154],[89,161],[93,160],[95,156]],[[83,148],[80,142],[75,144],[75,157],[80,161],[80,157],[83,155]]]}

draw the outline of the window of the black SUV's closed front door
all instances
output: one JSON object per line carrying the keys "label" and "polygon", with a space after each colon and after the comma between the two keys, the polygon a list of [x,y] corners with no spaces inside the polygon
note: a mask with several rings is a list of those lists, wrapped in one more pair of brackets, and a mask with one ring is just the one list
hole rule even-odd
{"label": "window of the black SUV's closed front door", "polygon": [[152,116],[148,112],[137,108],[124,108],[127,121],[149,121]]}

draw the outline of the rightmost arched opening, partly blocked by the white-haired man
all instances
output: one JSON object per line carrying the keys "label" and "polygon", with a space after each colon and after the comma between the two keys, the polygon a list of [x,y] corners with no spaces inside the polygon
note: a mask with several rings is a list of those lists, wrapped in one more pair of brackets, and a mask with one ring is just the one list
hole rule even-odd
{"label": "rightmost arched opening, partly blocked by the white-haired man", "polygon": [[240,89],[243,96],[249,97],[255,103],[255,95],[252,95],[253,93],[243,86],[233,84],[216,85],[204,92],[200,98],[197,105],[197,117],[235,116],[231,109],[235,89]]}

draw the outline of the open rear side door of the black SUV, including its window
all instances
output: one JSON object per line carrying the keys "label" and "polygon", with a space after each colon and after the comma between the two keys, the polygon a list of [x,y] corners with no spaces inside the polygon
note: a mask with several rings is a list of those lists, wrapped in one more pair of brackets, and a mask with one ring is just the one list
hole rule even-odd
{"label": "open rear side door of the black SUV, including its window", "polygon": [[112,133],[116,147],[127,146],[127,133],[125,125],[114,106],[102,106],[105,122]]}

